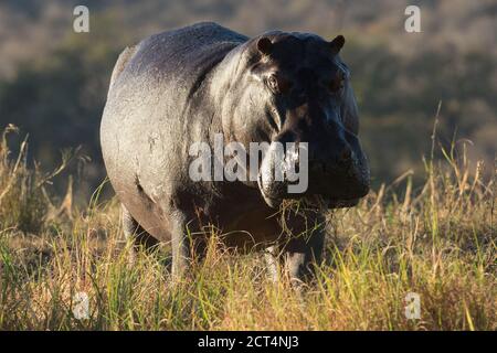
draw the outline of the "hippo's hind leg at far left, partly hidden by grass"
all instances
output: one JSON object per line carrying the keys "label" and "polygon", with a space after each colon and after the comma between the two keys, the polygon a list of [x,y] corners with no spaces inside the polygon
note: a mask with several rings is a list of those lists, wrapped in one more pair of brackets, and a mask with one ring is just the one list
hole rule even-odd
{"label": "hippo's hind leg at far left, partly hidden by grass", "polygon": [[151,252],[158,244],[158,240],[154,238],[147,231],[145,231],[138,222],[131,216],[129,211],[121,205],[123,212],[123,229],[126,239],[133,240],[133,246],[129,253],[129,263],[134,264],[136,260],[137,252],[144,249]]}

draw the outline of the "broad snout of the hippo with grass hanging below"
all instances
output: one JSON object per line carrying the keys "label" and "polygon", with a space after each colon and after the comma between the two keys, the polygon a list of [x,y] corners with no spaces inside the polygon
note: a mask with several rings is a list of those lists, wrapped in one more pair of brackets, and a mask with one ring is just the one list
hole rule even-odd
{"label": "broad snout of the hippo with grass hanging below", "polygon": [[[322,147],[317,142],[295,143],[282,151],[278,141],[269,146],[258,174],[266,203],[275,207],[284,199],[321,196],[330,208],[349,207],[369,192],[369,165],[355,136]],[[328,147],[328,148],[326,148]]]}

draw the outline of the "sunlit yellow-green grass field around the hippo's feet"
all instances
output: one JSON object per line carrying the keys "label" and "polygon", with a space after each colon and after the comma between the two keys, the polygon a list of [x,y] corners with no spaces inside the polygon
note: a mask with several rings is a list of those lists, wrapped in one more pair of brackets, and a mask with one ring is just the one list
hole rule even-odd
{"label": "sunlit yellow-green grass field around the hippo's feet", "polygon": [[[427,158],[421,188],[406,173],[330,214],[326,260],[302,291],[215,235],[172,287],[166,248],[129,265],[117,200],[55,202],[25,143],[9,159],[3,139],[0,154],[0,330],[497,330],[495,178],[451,150]],[[73,314],[76,292],[88,319]],[[419,320],[405,318],[409,292]]]}

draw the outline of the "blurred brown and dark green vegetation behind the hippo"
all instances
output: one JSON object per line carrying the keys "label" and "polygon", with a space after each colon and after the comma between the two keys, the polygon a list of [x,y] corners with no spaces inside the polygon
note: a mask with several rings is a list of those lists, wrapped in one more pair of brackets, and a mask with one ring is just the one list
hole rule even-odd
{"label": "blurred brown and dark green vegetation behind the hippo", "polygon": [[[73,9],[89,9],[89,33],[73,32]],[[404,31],[404,9],[421,8],[422,32]],[[142,38],[198,21],[247,35],[272,29],[347,38],[373,184],[408,170],[423,176],[440,110],[441,143],[470,140],[473,161],[494,168],[497,140],[497,1],[441,0],[2,0],[0,129],[29,133],[30,160],[44,168],[81,146],[67,173],[87,200],[104,180],[98,128],[114,63]],[[454,138],[455,136],[455,138]],[[23,139],[21,133],[18,139]],[[11,140],[11,146],[19,141]],[[438,149],[437,149],[438,150]],[[65,153],[65,152],[64,152]],[[65,189],[61,183],[54,193]]]}

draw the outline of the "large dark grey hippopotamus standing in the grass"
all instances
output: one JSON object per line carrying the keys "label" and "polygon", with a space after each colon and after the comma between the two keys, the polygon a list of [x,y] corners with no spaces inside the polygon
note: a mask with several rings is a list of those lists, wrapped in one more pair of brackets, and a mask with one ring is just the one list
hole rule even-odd
{"label": "large dark grey hippopotamus standing in the grass", "polygon": [[[127,47],[101,126],[126,236],[170,244],[173,278],[201,258],[213,233],[229,248],[266,249],[268,264],[282,260],[292,279],[311,274],[321,260],[327,210],[351,207],[369,191],[350,69],[339,56],[343,43],[342,35],[247,38],[197,23]],[[256,180],[191,178],[191,146],[213,147],[219,136],[225,145],[269,146]],[[282,188],[288,181],[267,176],[278,168],[272,148],[278,142],[306,143],[304,192],[289,193]],[[306,206],[282,211],[290,201]]]}

